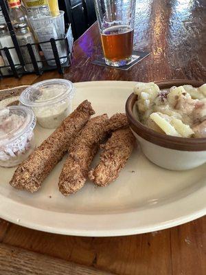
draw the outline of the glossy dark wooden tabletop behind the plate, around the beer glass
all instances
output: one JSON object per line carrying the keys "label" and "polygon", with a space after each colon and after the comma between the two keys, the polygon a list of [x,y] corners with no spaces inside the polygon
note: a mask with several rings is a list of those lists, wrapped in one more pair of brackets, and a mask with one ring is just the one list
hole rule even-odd
{"label": "glossy dark wooden tabletop behind the plate, around the beer glass", "polygon": [[[98,25],[95,24],[76,41],[73,65],[63,78],[73,82],[205,80],[205,17],[205,0],[137,0],[134,48],[148,51],[150,56],[128,71],[91,64],[102,53]],[[56,75],[49,72],[39,79]]]}

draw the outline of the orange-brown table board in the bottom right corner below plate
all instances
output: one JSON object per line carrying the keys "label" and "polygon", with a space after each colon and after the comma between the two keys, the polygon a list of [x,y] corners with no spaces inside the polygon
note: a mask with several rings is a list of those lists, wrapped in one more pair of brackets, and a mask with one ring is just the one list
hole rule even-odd
{"label": "orange-brown table board in the bottom right corner below plate", "polygon": [[206,217],[170,232],[172,274],[206,274]]}

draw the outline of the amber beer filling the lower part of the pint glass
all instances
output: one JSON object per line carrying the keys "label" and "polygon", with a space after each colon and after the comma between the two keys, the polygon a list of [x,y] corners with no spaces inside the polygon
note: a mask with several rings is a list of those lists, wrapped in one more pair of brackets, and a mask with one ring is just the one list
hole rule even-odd
{"label": "amber beer filling the lower part of the pint glass", "polygon": [[133,35],[134,30],[125,25],[106,28],[101,34],[104,57],[113,62],[130,59],[133,52]]}

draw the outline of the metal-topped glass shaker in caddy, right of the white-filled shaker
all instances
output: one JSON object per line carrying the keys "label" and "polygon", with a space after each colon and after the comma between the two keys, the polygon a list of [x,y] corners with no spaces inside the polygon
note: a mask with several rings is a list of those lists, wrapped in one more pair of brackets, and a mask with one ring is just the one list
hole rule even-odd
{"label": "metal-topped glass shaker in caddy, right of the white-filled shaker", "polygon": [[[26,45],[28,43],[33,44],[35,43],[34,41],[34,36],[32,34],[32,32],[30,32],[28,26],[26,23],[17,23],[14,25],[14,30],[16,32],[16,39],[19,43],[20,46],[24,45],[25,47],[21,47],[21,54],[23,56],[23,60],[25,62],[25,71],[27,72],[34,72],[34,66],[32,64],[31,58],[30,58],[30,54],[29,51],[26,47]],[[32,50],[34,52],[34,56],[36,58],[36,61],[38,64],[38,68],[41,69],[43,67],[43,64],[41,61],[41,57],[38,54],[38,48],[36,47],[36,45],[32,45]],[[27,63],[31,63],[31,64],[27,64]]]}

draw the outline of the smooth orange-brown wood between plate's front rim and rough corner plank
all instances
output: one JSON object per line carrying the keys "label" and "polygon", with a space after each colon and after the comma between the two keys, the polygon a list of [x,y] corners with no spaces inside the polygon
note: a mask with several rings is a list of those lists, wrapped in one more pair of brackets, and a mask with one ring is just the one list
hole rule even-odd
{"label": "smooth orange-brown wood between plate's front rim and rough corner plank", "polygon": [[206,217],[135,236],[63,236],[11,224],[3,243],[119,275],[205,274]]}

